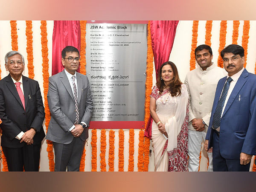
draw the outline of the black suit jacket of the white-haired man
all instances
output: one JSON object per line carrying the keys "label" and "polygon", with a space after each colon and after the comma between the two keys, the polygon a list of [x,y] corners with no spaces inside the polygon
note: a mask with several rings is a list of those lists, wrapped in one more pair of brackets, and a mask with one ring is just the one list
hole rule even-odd
{"label": "black suit jacket of the white-haired man", "polygon": [[38,81],[22,76],[23,91],[25,98],[25,109],[21,103],[16,87],[10,74],[0,80],[0,118],[3,130],[2,146],[20,148],[25,142],[15,137],[21,132],[35,128],[36,134],[33,145],[38,145],[44,139],[44,105]]}

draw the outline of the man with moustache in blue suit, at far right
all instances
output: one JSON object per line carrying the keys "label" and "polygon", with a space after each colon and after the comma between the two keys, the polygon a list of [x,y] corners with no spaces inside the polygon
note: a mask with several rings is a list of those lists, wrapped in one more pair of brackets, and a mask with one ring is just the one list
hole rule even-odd
{"label": "man with moustache in blue suit, at far right", "polygon": [[221,51],[228,76],[216,88],[204,147],[212,147],[213,171],[249,171],[256,154],[256,75],[244,69],[244,48]]}

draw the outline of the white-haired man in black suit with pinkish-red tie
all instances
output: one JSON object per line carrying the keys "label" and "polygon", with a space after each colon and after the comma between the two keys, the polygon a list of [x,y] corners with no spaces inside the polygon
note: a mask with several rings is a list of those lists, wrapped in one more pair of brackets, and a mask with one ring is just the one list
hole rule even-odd
{"label": "white-haired man in black suit with pinkish-red tie", "polygon": [[38,171],[44,105],[37,81],[22,75],[24,58],[17,51],[5,56],[9,75],[0,81],[2,148],[9,171]]}

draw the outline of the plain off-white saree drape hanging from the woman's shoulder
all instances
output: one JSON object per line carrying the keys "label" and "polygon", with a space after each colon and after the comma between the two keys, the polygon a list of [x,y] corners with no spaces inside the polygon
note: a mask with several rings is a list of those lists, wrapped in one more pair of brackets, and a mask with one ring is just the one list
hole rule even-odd
{"label": "plain off-white saree drape hanging from the woman's shoulder", "polygon": [[167,151],[171,151],[177,147],[177,136],[183,127],[183,124],[186,124],[186,116],[188,115],[187,105],[188,105],[188,92],[186,85],[182,84],[181,95],[177,96],[177,105],[175,116],[168,119],[168,122],[165,125],[166,132],[168,134],[168,146]]}

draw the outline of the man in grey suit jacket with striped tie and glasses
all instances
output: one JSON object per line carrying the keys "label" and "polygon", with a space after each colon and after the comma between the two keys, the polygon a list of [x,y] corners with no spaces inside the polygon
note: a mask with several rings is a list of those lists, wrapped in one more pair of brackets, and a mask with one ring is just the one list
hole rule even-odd
{"label": "man in grey suit jacket with striped tie and glasses", "polygon": [[67,46],[62,50],[64,70],[49,78],[47,94],[52,114],[47,140],[55,152],[55,171],[79,171],[88,126],[93,111],[90,82],[77,73],[79,50]]}

